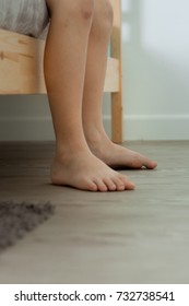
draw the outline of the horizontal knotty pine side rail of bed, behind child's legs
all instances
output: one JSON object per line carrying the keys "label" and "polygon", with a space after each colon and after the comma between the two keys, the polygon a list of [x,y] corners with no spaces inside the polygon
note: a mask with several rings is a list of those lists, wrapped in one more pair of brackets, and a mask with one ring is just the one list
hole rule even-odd
{"label": "horizontal knotty pine side rail of bed, behind child's legs", "polygon": [[[0,94],[46,93],[44,47],[44,40],[0,30]],[[118,60],[109,58],[105,92],[119,90],[118,70]]]}

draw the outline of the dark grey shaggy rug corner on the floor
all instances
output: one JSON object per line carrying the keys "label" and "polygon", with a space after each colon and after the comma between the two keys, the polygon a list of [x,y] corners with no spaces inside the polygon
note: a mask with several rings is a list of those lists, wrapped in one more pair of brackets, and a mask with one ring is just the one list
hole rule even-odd
{"label": "dark grey shaggy rug corner on the floor", "polygon": [[55,207],[50,203],[0,202],[0,252],[48,220],[54,212]]}

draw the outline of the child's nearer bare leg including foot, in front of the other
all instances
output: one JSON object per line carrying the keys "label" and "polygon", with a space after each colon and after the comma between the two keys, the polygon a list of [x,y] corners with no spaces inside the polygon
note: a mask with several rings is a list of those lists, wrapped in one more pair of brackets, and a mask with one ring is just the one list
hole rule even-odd
{"label": "child's nearer bare leg including foot, in front of the other", "polygon": [[86,190],[133,189],[126,176],[94,156],[82,127],[82,97],[94,0],[47,0],[51,14],[45,79],[56,132],[51,179]]}

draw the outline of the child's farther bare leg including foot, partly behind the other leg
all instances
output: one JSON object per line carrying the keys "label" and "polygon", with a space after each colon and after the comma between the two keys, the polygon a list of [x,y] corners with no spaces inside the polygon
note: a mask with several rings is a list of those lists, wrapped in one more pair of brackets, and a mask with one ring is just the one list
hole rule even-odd
{"label": "child's farther bare leg including foot, partly behind the other leg", "polygon": [[154,168],[156,163],[147,157],[114,144],[103,127],[102,101],[107,63],[107,47],[113,23],[108,0],[95,0],[93,24],[88,38],[84,96],[83,128],[92,152],[110,166]]}

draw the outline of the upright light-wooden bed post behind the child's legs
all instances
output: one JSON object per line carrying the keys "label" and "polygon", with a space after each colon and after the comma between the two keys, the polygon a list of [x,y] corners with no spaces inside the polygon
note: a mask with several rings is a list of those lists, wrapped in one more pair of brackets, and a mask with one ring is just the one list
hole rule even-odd
{"label": "upright light-wooden bed post behind the child's legs", "polygon": [[111,0],[114,27],[110,40],[110,55],[119,60],[119,92],[111,93],[111,137],[122,143],[122,47],[121,47],[121,0]]}

